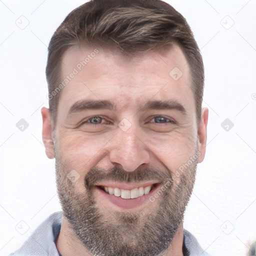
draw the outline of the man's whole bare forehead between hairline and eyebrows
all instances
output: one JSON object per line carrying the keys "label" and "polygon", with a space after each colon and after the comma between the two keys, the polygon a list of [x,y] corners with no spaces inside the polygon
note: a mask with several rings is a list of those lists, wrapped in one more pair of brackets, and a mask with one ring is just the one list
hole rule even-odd
{"label": "man's whole bare forehead between hairline and eyebrows", "polygon": [[82,99],[108,99],[126,108],[139,107],[148,99],[174,99],[186,104],[193,98],[189,66],[177,44],[132,56],[73,45],[62,56],[61,80],[66,83],[58,112],[67,112]]}

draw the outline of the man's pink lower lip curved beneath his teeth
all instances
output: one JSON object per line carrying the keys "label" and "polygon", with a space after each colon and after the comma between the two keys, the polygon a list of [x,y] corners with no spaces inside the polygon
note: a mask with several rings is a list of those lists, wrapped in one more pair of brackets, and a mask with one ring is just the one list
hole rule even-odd
{"label": "man's pink lower lip curved beneath his teeth", "polygon": [[149,197],[152,196],[155,191],[158,189],[159,184],[156,184],[153,186],[151,191],[148,194],[144,194],[142,196],[139,196],[137,198],[130,198],[130,199],[124,199],[121,198],[120,196],[115,196],[113,194],[109,194],[105,192],[103,189],[100,187],[96,186],[96,189],[101,197],[103,197],[104,201],[105,199],[110,201],[112,204],[123,208],[123,209],[132,209],[141,206],[142,204],[146,203],[149,201]]}

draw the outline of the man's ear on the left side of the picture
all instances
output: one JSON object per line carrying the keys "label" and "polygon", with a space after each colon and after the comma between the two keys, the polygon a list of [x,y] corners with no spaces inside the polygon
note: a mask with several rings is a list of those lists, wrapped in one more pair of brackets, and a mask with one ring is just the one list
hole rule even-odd
{"label": "man's ear on the left side of the picture", "polygon": [[42,142],[45,147],[45,153],[48,158],[52,159],[55,157],[54,143],[51,136],[51,122],[49,109],[46,107],[41,108],[42,114]]}

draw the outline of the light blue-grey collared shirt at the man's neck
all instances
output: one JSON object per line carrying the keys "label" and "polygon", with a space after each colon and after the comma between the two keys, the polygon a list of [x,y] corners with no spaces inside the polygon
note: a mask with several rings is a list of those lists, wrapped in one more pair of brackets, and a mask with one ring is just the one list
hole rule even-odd
{"label": "light blue-grey collared shirt at the man's neck", "polygon": [[[61,226],[61,211],[52,213],[27,238],[19,249],[9,256],[59,256],[54,242]],[[195,237],[183,229],[184,243],[189,256],[210,256],[198,244]]]}

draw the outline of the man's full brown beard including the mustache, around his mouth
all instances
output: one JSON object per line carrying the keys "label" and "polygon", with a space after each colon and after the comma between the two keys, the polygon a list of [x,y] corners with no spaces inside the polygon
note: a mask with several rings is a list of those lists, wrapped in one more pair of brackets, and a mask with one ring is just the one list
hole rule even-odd
{"label": "man's full brown beard including the mustache, around his mouth", "polygon": [[[119,167],[107,170],[93,167],[85,175],[82,189],[66,177],[70,168],[61,164],[62,159],[57,151],[55,160],[56,185],[62,214],[92,255],[156,256],[167,251],[183,221],[192,193],[197,157],[190,160],[191,164],[184,172],[179,173],[176,181],[170,176],[174,172],[160,171],[159,168],[144,167],[126,172]],[[166,182],[169,185],[164,191],[160,191],[154,207],[150,208],[150,202],[147,202],[140,210],[110,212],[106,208],[99,208],[99,202],[96,202],[91,191],[96,182],[106,180],[127,183],[158,180],[158,191]]]}

